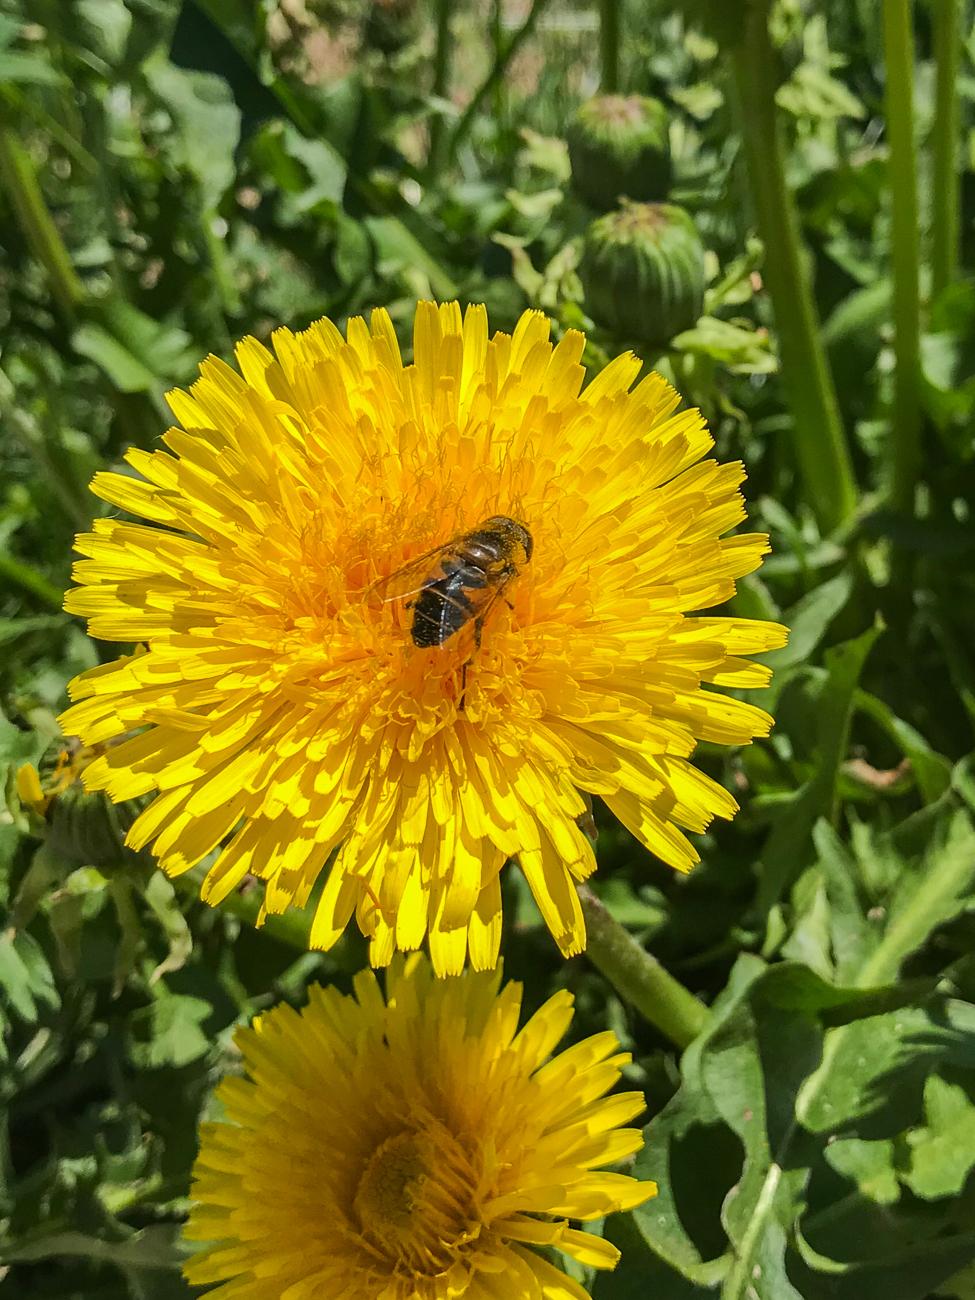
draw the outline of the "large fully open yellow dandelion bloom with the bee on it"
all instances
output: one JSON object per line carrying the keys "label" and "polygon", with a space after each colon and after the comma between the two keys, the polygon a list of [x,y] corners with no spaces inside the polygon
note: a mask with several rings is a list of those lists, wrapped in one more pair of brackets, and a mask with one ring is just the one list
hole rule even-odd
{"label": "large fully open yellow dandelion bloom with the bee on it", "polygon": [[489,338],[484,308],[420,303],[412,365],[384,311],[273,343],[170,394],[183,428],[129,451],[140,477],[95,476],[150,524],[99,519],[77,542],[65,607],[144,644],[72,684],[68,732],[144,728],[87,786],[159,792],[127,842],[172,875],[233,835],[211,904],[252,872],[268,913],[302,906],[338,849],[318,948],[355,911],[373,965],[426,935],[438,972],[468,950],[491,967],[517,858],[563,953],[581,950],[580,792],[686,870],[680,828],[736,811],[696,742],[771,724],[702,684],[763,685],[742,655],[784,629],[693,612],[767,550],[722,540],[741,464],[702,460],[701,415],[675,413],[658,374],[632,387],[632,355],[584,389],[584,337],[552,346],[538,312]]}

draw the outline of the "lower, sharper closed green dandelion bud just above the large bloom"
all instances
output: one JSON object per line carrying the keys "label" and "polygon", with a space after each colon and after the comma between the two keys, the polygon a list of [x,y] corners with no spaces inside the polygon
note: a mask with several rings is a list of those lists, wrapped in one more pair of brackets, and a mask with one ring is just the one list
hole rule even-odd
{"label": "lower, sharper closed green dandelion bud just above the large bloom", "polygon": [[627,203],[589,226],[578,277],[585,308],[618,338],[664,347],[705,302],[705,250],[672,203]]}

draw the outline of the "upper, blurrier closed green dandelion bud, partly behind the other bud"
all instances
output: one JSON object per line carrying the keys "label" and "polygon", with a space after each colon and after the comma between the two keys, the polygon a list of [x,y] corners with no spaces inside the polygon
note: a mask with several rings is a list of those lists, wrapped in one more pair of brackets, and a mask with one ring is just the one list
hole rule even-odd
{"label": "upper, blurrier closed green dandelion bud, partly behind the other bud", "polygon": [[621,198],[666,199],[671,187],[667,110],[644,95],[597,95],[567,131],[572,187],[597,212]]}

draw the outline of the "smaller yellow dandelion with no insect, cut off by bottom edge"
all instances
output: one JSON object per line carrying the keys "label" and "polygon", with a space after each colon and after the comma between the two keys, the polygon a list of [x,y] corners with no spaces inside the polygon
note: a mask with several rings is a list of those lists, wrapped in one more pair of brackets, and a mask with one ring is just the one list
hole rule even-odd
{"label": "smaller yellow dandelion with no insect, cut off by bottom edge", "polygon": [[[533,1247],[597,1269],[619,1251],[568,1219],[641,1205],[654,1183],[604,1173],[642,1147],[630,1057],[612,1032],[547,1057],[572,1019],[556,993],[517,1031],[500,971],[436,979],[396,958],[384,1001],[312,988],[235,1041],[250,1079],[217,1089],[186,1235],[190,1282],[226,1300],[588,1300]],[[546,1063],[547,1061],[547,1063]]]}

